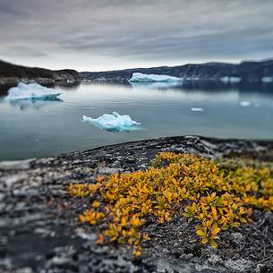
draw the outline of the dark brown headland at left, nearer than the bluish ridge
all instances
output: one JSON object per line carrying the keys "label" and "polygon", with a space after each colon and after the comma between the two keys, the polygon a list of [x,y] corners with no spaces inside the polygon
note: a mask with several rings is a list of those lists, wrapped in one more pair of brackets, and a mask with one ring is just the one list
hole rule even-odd
{"label": "dark brown headland at left, nearer than the bluish ridge", "polygon": [[48,70],[38,67],[26,67],[21,65],[9,64],[0,61],[0,79],[45,79],[47,81],[80,80],[80,75],[75,70]]}

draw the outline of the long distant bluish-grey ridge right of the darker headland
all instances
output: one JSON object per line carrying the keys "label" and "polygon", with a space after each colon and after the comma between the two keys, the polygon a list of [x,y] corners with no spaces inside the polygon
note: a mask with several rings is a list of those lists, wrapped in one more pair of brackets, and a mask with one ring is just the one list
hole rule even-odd
{"label": "long distant bluish-grey ridge right of the darker headland", "polygon": [[132,73],[154,73],[181,77],[185,80],[219,81],[223,77],[238,77],[242,81],[262,81],[262,77],[273,77],[273,60],[243,62],[241,64],[207,63],[180,66],[135,68],[108,72],[80,73],[81,79],[104,81],[128,81]]}

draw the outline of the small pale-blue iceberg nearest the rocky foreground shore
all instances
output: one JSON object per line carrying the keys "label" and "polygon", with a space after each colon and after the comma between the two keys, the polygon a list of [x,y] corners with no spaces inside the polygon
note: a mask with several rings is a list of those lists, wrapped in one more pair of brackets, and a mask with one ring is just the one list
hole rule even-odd
{"label": "small pale-blue iceberg nearest the rocky foreground shore", "polygon": [[140,125],[133,121],[130,115],[119,115],[116,112],[113,112],[113,115],[104,114],[98,118],[82,115],[82,121],[111,132],[131,131],[135,129],[135,125]]}

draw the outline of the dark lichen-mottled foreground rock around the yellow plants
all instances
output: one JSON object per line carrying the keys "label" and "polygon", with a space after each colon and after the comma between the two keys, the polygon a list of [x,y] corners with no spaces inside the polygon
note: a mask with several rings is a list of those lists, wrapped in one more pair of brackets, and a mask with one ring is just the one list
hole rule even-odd
{"label": "dark lichen-mottled foreground rock around the yellow plants", "polygon": [[94,229],[77,218],[89,204],[67,194],[69,183],[146,169],[162,151],[273,161],[273,141],[184,136],[0,162],[0,272],[271,272],[273,215],[258,210],[252,225],[227,231],[218,250],[196,242],[183,218],[149,226],[153,240],[140,258],[126,246],[96,244]]}

